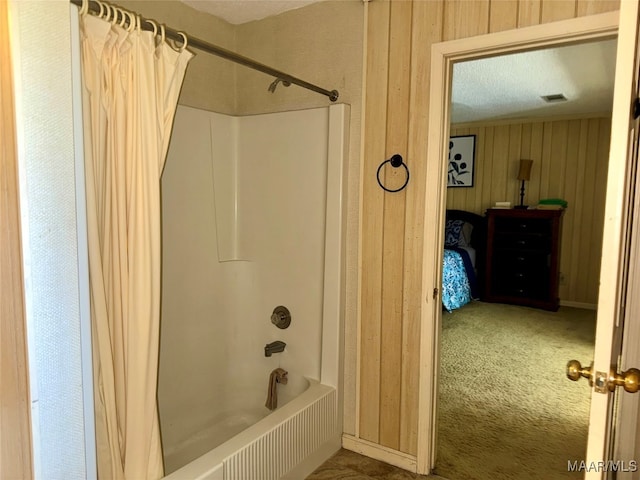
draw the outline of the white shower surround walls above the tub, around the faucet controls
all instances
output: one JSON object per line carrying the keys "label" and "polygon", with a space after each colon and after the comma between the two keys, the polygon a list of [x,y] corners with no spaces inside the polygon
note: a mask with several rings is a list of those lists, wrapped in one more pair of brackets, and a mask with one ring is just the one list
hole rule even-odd
{"label": "white shower surround walls above the tub, around the faucet controls", "polygon": [[[320,379],[328,132],[327,107],[178,107],[162,177],[165,449],[214,421],[234,385],[266,399],[274,368]],[[278,305],[292,313],[286,330],[270,321]],[[286,350],[266,358],[274,340]]]}

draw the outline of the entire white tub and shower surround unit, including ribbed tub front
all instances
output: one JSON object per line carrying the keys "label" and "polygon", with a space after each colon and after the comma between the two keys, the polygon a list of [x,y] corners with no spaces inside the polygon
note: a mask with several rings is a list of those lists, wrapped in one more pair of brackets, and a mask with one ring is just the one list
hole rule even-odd
{"label": "entire white tub and shower surround unit, including ribbed tub front", "polygon": [[[248,117],[179,107],[162,183],[166,471],[181,442],[243,403],[234,390],[257,386],[247,396],[266,410],[274,369],[312,385],[264,419],[236,411],[238,428],[258,422],[168,478],[303,478],[340,448],[348,118],[346,105]],[[270,321],[279,305],[284,330]],[[284,351],[265,357],[274,341]]]}

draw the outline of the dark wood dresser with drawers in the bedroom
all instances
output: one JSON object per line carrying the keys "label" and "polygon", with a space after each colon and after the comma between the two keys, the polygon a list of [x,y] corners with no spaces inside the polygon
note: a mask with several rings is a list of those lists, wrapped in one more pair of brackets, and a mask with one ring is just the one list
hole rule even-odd
{"label": "dark wood dresser with drawers in the bedroom", "polygon": [[487,302],[557,310],[563,210],[487,210]]}

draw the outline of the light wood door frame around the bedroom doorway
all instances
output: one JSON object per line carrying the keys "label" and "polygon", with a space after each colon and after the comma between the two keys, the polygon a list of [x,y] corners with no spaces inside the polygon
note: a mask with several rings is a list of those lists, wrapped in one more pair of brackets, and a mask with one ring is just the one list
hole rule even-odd
{"label": "light wood door frame around the bedroom doorway", "polygon": [[[619,12],[579,17],[516,30],[436,43],[431,49],[432,99],[429,109],[426,195],[424,202],[424,255],[420,330],[420,384],[418,399],[417,472],[428,474],[435,465],[437,392],[442,320],[441,259],[446,200],[446,146],[450,128],[451,78],[456,62],[615,38]],[[435,225],[435,228],[434,228]]]}

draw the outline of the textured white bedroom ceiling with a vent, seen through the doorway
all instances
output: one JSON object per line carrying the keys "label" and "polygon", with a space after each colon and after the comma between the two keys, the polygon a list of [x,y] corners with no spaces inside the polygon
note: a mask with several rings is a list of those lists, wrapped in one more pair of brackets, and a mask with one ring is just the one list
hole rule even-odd
{"label": "textured white bedroom ceiling with a vent, seen through the doorway", "polygon": [[[615,61],[606,40],[457,63],[451,121],[611,112]],[[566,102],[541,98],[559,93]]]}

